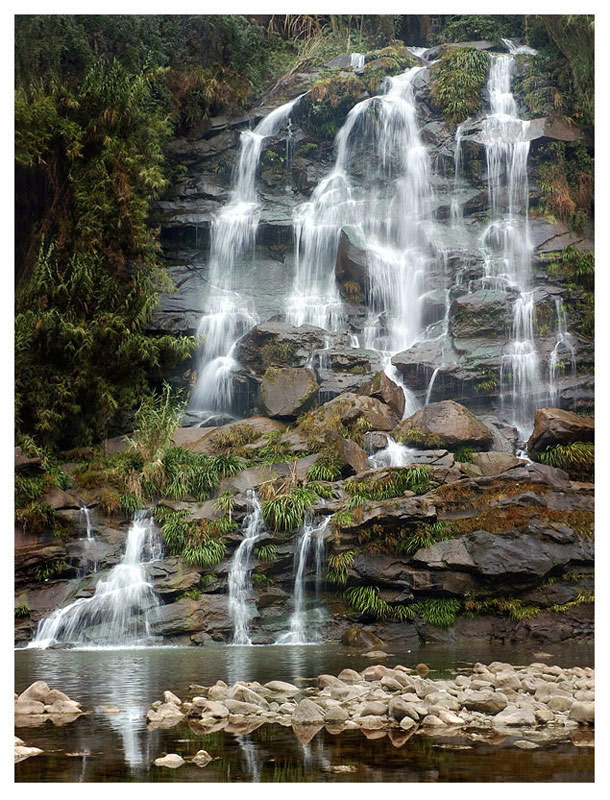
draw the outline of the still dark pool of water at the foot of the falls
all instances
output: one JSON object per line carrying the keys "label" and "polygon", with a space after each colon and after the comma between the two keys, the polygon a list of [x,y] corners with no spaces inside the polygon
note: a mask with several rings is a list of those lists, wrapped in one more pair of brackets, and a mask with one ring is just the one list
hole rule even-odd
{"label": "still dark pool of water at the foot of the falls", "polygon": [[[413,667],[425,661],[430,677],[474,661],[528,664],[534,646],[468,643],[459,647],[427,645],[413,651],[389,648],[388,665]],[[560,666],[592,666],[591,647],[565,644],[545,648]],[[570,739],[537,750],[514,746],[523,737],[497,737],[494,743],[462,736],[413,736],[402,746],[389,737],[366,738],[360,731],[337,735],[325,729],[300,743],[291,728],[265,725],[248,735],[222,731],[201,734],[187,722],[169,730],[148,731],[146,712],[165,689],[188,694],[189,684],[210,685],[218,679],[285,680],[313,685],[320,673],[337,674],[344,667],[363,669],[371,661],[337,644],[204,648],[17,650],[15,691],[45,680],[91,711],[65,726],[47,721],[20,727],[16,733],[44,753],[17,764],[17,781],[592,781],[593,748]],[[372,663],[376,663],[375,661]],[[109,707],[120,712],[108,713]],[[373,735],[378,735],[375,732]],[[371,735],[371,734],[369,734]],[[184,758],[207,750],[214,757],[200,769],[185,764],[177,770],[152,762],[166,753]],[[350,771],[334,771],[335,768]]]}

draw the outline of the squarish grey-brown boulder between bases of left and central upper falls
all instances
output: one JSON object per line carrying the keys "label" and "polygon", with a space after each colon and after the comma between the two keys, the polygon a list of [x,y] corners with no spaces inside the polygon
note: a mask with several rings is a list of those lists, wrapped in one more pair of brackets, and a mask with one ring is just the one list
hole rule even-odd
{"label": "squarish grey-brown boulder between bases of left and central upper falls", "polygon": [[261,383],[261,403],[270,417],[295,418],[316,405],[319,388],[309,369],[269,367]]}

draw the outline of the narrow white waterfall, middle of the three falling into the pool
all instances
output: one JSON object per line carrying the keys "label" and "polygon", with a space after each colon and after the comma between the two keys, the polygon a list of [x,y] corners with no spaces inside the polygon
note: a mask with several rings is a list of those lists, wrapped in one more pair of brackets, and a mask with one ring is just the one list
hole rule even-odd
{"label": "narrow white waterfall, middle of the three falling into the pool", "polygon": [[252,644],[249,635],[252,599],[252,568],[250,559],[254,545],[265,530],[263,512],[255,492],[248,490],[250,513],[244,520],[244,538],[235,551],[229,568],[229,616],[233,622],[233,644]]}

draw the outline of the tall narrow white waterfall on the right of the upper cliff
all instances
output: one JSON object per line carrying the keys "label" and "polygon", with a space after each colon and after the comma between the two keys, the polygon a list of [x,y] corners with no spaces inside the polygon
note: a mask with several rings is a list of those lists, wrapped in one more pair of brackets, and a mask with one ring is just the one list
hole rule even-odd
{"label": "tall narrow white waterfall on the right of the upper cliff", "polygon": [[[492,55],[487,82],[490,113],[484,121],[488,193],[492,222],[484,233],[486,273],[519,295],[513,307],[512,340],[501,368],[502,399],[508,391],[511,421],[522,439],[533,425],[541,400],[539,357],[534,336],[535,303],[531,283],[529,235],[529,125],[517,117],[511,92],[512,55]],[[507,389],[508,386],[508,389]]]}

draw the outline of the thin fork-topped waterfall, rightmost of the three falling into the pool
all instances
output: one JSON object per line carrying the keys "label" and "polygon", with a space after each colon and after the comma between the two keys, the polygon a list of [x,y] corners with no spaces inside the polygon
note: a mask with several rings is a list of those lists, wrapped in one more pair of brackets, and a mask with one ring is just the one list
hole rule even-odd
{"label": "thin fork-topped waterfall, rightmost of the three falling into the pool", "polygon": [[299,537],[297,549],[294,554],[294,610],[290,617],[290,629],[278,639],[278,644],[309,644],[307,613],[305,610],[305,580],[306,570],[312,546],[314,548],[316,593],[322,580],[322,564],[324,556],[324,536],[330,524],[330,517],[316,525],[307,521]]}

